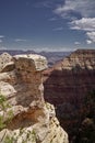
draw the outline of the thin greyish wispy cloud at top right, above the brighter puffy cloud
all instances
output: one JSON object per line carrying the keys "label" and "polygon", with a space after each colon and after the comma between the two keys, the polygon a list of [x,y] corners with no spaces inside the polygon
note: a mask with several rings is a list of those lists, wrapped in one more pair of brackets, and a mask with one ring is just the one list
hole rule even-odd
{"label": "thin greyish wispy cloud at top right, above the brighter puffy cloud", "polygon": [[59,6],[55,13],[68,16],[70,12],[76,12],[84,18],[95,15],[95,0],[66,0],[66,3]]}

